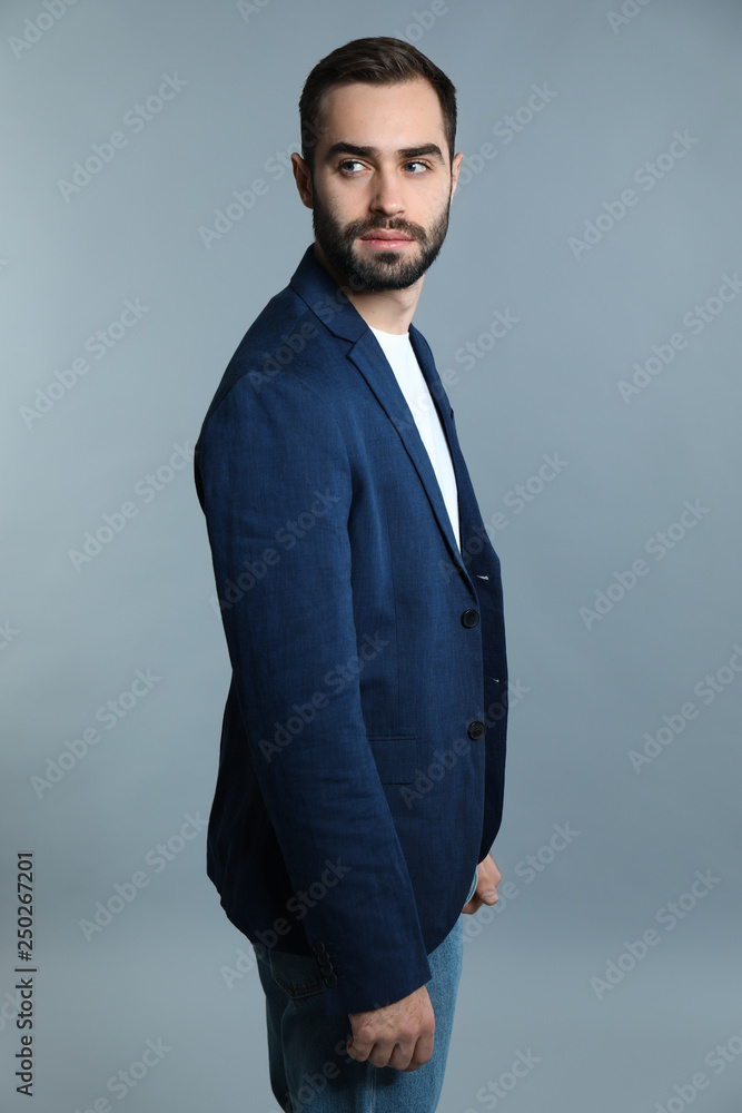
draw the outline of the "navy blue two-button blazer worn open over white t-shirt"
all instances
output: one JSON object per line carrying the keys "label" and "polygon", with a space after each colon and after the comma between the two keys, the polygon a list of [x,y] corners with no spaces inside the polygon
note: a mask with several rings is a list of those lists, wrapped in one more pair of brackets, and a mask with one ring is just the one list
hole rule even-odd
{"label": "navy blue two-button blazer worn open over white t-shirt", "polygon": [[502,816],[499,560],[409,336],[461,552],[394,373],[313,246],[235,352],[195,454],[233,668],[208,875],[256,947],[316,956],[329,1015],[431,978]]}

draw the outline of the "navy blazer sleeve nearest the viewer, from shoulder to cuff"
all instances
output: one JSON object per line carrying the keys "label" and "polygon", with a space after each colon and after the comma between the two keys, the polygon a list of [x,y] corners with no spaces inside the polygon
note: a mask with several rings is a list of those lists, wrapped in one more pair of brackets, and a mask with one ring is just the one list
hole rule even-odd
{"label": "navy blazer sleeve nearest the viewer, from shoulder to cuff", "polygon": [[[340,426],[301,380],[238,380],[196,454],[217,592],[251,581],[222,621],[256,776],[295,892],[340,879],[306,912],[337,984],[329,1015],[377,1008],[432,974],[405,858],[362,713]],[[240,580],[241,577],[241,580]],[[236,598],[236,597],[235,597]],[[383,652],[383,648],[379,652]]]}

